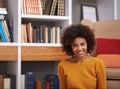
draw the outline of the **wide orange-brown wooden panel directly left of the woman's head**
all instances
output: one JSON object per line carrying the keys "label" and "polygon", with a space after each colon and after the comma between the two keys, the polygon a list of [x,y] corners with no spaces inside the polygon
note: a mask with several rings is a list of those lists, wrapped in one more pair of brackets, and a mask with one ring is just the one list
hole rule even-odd
{"label": "wide orange-brown wooden panel directly left of the woman's head", "polygon": [[22,61],[58,61],[67,56],[62,52],[61,47],[44,46],[23,46]]}

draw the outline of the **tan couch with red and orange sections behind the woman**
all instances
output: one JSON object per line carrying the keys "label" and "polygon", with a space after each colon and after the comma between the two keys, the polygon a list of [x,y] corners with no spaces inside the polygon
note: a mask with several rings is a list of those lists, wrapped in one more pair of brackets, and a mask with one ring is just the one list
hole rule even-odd
{"label": "tan couch with red and orange sections behind the woman", "polygon": [[84,19],[81,23],[95,33],[97,45],[92,55],[106,65],[107,89],[120,89],[120,20],[92,22]]}

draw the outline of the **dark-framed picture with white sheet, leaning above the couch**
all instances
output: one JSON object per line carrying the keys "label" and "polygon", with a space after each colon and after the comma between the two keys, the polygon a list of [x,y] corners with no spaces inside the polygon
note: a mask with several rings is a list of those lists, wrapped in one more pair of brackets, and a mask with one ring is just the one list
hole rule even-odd
{"label": "dark-framed picture with white sheet, leaning above the couch", "polygon": [[89,19],[93,22],[98,21],[97,8],[91,5],[81,5],[81,20]]}

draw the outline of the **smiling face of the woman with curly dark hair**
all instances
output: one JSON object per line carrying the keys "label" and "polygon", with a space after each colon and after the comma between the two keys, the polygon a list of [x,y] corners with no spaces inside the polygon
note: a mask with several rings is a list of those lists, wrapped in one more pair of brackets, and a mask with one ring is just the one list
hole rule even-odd
{"label": "smiling face of the woman with curly dark hair", "polygon": [[87,54],[87,42],[85,38],[77,37],[74,39],[72,45],[72,51],[77,57],[84,57]]}

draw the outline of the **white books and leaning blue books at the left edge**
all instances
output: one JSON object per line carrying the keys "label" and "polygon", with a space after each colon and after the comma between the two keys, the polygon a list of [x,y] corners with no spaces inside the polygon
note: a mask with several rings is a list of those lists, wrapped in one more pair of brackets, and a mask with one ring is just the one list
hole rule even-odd
{"label": "white books and leaning blue books at the left edge", "polygon": [[7,9],[0,7],[0,42],[13,42],[13,20],[6,20]]}

